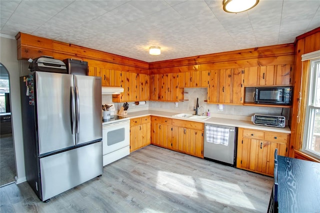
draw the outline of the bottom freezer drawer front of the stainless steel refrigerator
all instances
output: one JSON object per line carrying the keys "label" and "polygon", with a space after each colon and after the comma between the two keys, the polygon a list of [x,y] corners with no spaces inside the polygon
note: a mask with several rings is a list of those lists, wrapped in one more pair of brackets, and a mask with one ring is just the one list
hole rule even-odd
{"label": "bottom freezer drawer front of the stainless steel refrigerator", "polygon": [[102,174],[102,141],[40,158],[42,201]]}

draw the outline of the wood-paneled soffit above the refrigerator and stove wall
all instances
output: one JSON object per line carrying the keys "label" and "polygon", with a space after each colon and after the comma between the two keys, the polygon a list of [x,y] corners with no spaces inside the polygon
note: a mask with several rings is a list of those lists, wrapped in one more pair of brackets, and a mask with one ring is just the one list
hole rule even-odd
{"label": "wood-paneled soffit above the refrigerator and stove wall", "polygon": [[22,32],[19,32],[15,38],[17,40],[17,59],[27,60],[41,55],[50,55],[60,60],[65,58],[79,58],[88,61],[89,66],[143,74],[149,73],[149,64],[141,60]]}

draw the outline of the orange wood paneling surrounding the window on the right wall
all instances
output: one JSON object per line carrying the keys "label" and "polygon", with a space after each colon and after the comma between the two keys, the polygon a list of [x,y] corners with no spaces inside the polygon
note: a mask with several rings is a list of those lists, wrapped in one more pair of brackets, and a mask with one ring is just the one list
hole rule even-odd
{"label": "orange wood paneling surrounding the window on the right wall", "polygon": [[[291,115],[291,137],[289,146],[289,156],[299,157],[302,147],[303,130],[305,120],[305,108],[307,98],[307,81],[309,72],[309,62],[301,61],[301,55],[320,50],[320,27],[304,33],[295,40],[295,70],[294,70],[294,90]],[[300,97],[301,94],[301,97]],[[300,108],[299,99],[301,98]],[[298,112],[300,111],[300,114]],[[297,117],[299,116],[299,117]],[[297,152],[297,153],[295,153]],[[303,159],[307,158],[304,154]],[[312,157],[309,160],[314,160]]]}

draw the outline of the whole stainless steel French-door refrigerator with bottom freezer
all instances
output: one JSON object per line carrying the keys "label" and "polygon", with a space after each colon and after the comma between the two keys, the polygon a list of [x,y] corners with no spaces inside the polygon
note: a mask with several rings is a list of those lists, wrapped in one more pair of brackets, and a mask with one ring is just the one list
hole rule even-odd
{"label": "whole stainless steel French-door refrigerator with bottom freezer", "polygon": [[26,180],[42,200],[102,174],[101,78],[20,78]]}

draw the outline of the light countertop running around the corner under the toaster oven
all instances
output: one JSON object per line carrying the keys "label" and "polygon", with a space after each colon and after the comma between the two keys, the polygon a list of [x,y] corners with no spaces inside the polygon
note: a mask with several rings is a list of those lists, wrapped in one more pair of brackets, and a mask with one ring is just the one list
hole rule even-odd
{"label": "light countertop running around the corner under the toaster oven", "polygon": [[142,110],[142,111],[128,112],[127,115],[122,115],[122,116],[125,116],[128,118],[136,118],[141,116],[154,115],[154,116],[161,116],[161,117],[188,120],[188,121],[196,121],[196,122],[202,122],[202,123],[220,124],[220,125],[228,125],[228,126],[235,126],[235,127],[241,127],[241,128],[251,128],[251,129],[257,129],[257,130],[291,133],[291,130],[288,126],[285,126],[284,128],[280,128],[280,127],[255,125],[253,124],[252,121],[248,121],[248,120],[237,120],[237,119],[220,118],[220,117],[213,117],[213,116],[211,116],[209,119],[206,119],[206,120],[195,120],[195,119],[182,118],[182,117],[173,117],[172,115],[174,114],[177,114],[177,113],[160,111],[160,110]]}

